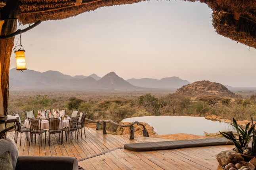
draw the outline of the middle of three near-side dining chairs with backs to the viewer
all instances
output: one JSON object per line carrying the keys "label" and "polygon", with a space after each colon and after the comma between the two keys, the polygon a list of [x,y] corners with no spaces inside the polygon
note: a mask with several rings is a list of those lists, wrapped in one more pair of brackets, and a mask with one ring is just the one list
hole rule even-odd
{"label": "middle of three near-side dining chairs with backs to the viewer", "polygon": [[[50,118],[49,120],[49,126],[50,129],[48,130],[48,143],[50,146],[50,138],[51,134],[59,134],[59,142],[61,142],[61,123],[62,123],[62,118]],[[62,143],[62,142],[61,142]]]}

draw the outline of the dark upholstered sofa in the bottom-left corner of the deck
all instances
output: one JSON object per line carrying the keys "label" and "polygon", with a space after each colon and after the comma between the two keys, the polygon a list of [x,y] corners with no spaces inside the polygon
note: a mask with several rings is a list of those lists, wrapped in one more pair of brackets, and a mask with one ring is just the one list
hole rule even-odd
{"label": "dark upholstered sofa in the bottom-left corner of the deck", "polygon": [[10,139],[0,140],[0,155],[10,151],[14,170],[78,170],[75,157],[19,156]]}

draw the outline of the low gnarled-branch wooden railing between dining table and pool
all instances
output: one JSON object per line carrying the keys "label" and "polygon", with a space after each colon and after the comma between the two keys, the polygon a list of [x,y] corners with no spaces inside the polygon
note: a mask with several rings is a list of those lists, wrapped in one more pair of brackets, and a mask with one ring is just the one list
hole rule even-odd
{"label": "low gnarled-branch wooden railing between dining table and pool", "polygon": [[96,123],[96,130],[99,130],[99,125],[103,125],[103,134],[107,134],[107,123],[112,123],[113,125],[117,125],[117,126],[120,126],[120,127],[130,127],[130,140],[134,139],[135,128],[134,128],[133,125],[137,124],[137,125],[140,125],[140,126],[143,127],[143,130],[142,130],[143,136],[144,137],[149,137],[149,134],[147,132],[146,127],[138,121],[135,121],[135,122],[132,122],[132,123],[129,123],[129,124],[120,124],[120,123],[115,123],[112,120],[93,121],[93,120],[87,119],[87,118],[86,118],[86,120],[89,121],[89,122]]}

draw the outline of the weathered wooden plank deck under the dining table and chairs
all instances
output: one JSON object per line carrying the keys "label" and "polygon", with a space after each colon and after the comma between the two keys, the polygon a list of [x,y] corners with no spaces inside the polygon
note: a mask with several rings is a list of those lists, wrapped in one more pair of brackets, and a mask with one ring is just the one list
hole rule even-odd
{"label": "weathered wooden plank deck under the dining table and chairs", "polygon": [[[79,136],[79,134],[78,134]],[[8,132],[7,137],[14,142],[14,132]],[[75,137],[75,135],[73,135]],[[44,138],[44,135],[43,135]],[[76,139],[76,140],[75,140]],[[61,145],[59,135],[51,135],[51,144],[48,145],[48,133],[46,144],[36,138],[36,144],[31,144],[22,136],[21,146],[20,137],[16,147],[19,155],[41,155],[41,156],[71,156],[77,159],[90,157],[102,152],[102,155],[95,156],[84,161],[79,165],[85,170],[130,170],[130,169],[165,169],[165,170],[222,170],[215,159],[216,153],[228,150],[233,145],[195,147],[185,149],[173,149],[162,151],[134,152],[122,149],[124,144],[138,142],[164,141],[160,138],[147,138],[137,136],[135,140],[129,140],[128,135],[102,134],[101,130],[86,128],[86,138],[81,136],[72,140],[70,144],[65,141]],[[112,151],[109,151],[111,150]]]}

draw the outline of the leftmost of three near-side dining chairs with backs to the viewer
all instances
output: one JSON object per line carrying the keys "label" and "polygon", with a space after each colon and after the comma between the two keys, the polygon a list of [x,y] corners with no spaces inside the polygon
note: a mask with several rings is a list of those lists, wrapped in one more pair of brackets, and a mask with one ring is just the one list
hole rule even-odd
{"label": "leftmost of three near-side dining chairs with backs to the viewer", "polygon": [[[46,143],[46,131],[41,128],[41,120],[40,119],[30,119],[29,118],[29,125],[30,125],[30,138],[31,143],[33,143],[33,134],[35,135],[34,142],[36,143],[36,134],[40,135],[40,142],[42,146],[42,134],[45,133],[45,143]],[[30,140],[29,140],[30,146]]]}

